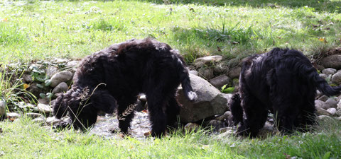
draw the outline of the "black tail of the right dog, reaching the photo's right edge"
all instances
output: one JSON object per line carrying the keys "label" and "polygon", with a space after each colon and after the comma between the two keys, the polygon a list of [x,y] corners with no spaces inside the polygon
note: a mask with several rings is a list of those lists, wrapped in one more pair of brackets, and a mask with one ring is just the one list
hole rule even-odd
{"label": "black tail of the right dog, reaching the photo's right edge", "polygon": [[320,77],[318,71],[313,66],[301,66],[301,73],[302,77],[308,78],[308,81],[315,84],[316,88],[320,90],[323,94],[332,96],[341,93],[341,86],[329,86],[327,81],[324,78]]}

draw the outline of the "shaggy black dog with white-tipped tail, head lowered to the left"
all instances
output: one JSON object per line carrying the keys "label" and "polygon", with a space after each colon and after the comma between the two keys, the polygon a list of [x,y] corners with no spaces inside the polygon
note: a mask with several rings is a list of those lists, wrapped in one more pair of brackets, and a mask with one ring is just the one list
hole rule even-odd
{"label": "shaggy black dog with white-tipped tail, head lowered to the left", "polygon": [[145,93],[152,136],[161,136],[179,114],[175,91],[180,83],[189,100],[197,98],[178,50],[152,39],[128,40],[85,57],[73,80],[72,88],[57,98],[53,113],[59,119],[68,112],[75,129],[87,129],[97,112],[117,108],[119,129],[126,134],[137,95]]}

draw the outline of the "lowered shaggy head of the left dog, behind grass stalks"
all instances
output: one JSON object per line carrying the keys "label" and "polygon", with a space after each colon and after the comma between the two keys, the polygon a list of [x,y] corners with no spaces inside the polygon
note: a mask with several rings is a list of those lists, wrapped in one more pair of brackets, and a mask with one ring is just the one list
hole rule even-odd
{"label": "lowered shaggy head of the left dog, behind grass stalks", "polygon": [[75,129],[87,129],[97,120],[97,112],[114,112],[116,100],[107,90],[72,88],[60,95],[53,104],[53,114],[57,119],[70,115]]}

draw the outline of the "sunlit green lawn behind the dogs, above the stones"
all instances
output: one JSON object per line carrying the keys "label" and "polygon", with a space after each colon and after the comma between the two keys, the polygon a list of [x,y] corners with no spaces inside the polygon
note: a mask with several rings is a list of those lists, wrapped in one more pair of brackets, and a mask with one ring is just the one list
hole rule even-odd
{"label": "sunlit green lawn behind the dogs, above the stones", "polygon": [[[0,1],[0,61],[82,58],[115,42],[154,37],[186,61],[291,47],[340,47],[334,1]],[[217,49],[220,47],[220,49]],[[221,52],[220,52],[221,50]]]}

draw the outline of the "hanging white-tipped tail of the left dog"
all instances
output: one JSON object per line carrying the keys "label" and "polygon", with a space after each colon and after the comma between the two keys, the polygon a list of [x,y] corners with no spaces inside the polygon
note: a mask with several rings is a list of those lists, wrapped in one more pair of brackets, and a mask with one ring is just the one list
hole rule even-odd
{"label": "hanging white-tipped tail of the left dog", "polygon": [[190,86],[190,76],[188,74],[188,69],[184,66],[184,61],[181,57],[176,58],[176,66],[178,68],[178,73],[180,76],[181,86],[183,87],[183,92],[185,93],[185,97],[194,101],[197,99],[197,93],[193,91],[192,86]]}

